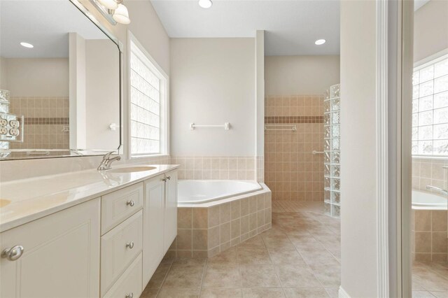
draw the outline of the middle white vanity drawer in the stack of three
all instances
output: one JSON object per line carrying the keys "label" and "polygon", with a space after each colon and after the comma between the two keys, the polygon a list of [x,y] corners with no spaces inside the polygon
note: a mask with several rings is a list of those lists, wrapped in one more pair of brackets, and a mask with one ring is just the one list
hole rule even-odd
{"label": "middle white vanity drawer in the stack of three", "polygon": [[143,211],[139,211],[101,237],[101,293],[123,274],[141,253]]}

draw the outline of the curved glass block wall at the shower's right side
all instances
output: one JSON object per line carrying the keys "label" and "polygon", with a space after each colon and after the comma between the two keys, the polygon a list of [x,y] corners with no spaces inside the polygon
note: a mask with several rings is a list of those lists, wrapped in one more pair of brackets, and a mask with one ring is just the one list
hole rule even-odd
{"label": "curved glass block wall at the shower's right side", "polygon": [[339,218],[340,193],[340,86],[332,85],[323,101],[323,199],[325,214]]}

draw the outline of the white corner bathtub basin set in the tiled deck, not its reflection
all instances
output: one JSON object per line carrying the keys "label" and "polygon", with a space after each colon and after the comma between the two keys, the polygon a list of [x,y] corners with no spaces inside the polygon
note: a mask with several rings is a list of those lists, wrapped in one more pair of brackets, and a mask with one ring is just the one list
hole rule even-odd
{"label": "white corner bathtub basin set in the tiled deck, not its reflection", "polygon": [[178,204],[203,204],[262,190],[251,180],[179,180]]}

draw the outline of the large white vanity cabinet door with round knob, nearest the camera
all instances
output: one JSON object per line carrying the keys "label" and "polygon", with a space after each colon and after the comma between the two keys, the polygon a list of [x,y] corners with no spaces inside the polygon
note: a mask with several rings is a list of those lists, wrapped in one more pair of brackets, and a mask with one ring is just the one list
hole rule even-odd
{"label": "large white vanity cabinet door with round knob, nearest the camera", "polygon": [[1,297],[99,297],[99,198],[0,234]]}

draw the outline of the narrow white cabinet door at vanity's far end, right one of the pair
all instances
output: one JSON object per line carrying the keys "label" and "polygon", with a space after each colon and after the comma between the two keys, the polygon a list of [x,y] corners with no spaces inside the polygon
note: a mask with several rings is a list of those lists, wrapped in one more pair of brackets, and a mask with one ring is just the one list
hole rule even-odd
{"label": "narrow white cabinet door at vanity's far end, right one of the pair", "polygon": [[167,173],[165,204],[165,253],[177,235],[177,171]]}

